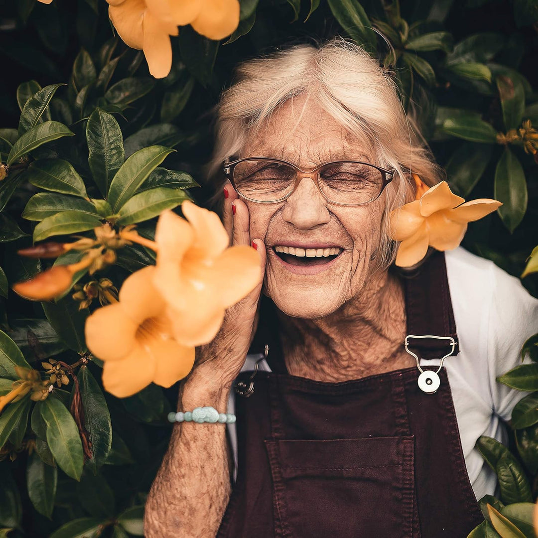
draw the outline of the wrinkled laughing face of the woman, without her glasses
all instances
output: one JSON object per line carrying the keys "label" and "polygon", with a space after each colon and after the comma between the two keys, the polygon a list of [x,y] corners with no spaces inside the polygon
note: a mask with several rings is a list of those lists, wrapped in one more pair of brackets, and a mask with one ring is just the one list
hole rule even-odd
{"label": "wrinkled laughing face of the woman, without her glasses", "polygon": [[[241,157],[284,159],[305,171],[335,160],[373,162],[360,143],[312,99],[304,110],[303,104],[302,96],[286,102]],[[251,238],[263,239],[267,249],[265,293],[282,312],[323,317],[360,296],[371,282],[385,193],[365,206],[336,206],[305,177],[284,202],[245,200]],[[309,257],[314,249],[316,257]],[[321,249],[331,255],[317,257]]]}

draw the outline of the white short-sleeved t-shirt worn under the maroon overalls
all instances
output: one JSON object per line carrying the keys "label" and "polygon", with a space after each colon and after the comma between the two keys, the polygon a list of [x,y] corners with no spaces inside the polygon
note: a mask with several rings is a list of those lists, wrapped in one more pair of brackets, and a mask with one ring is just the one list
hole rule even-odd
{"label": "white short-sleeved t-shirt worn under the maroon overalls", "polygon": [[[506,444],[507,431],[500,419],[509,420],[512,409],[528,392],[516,391],[495,380],[522,363],[520,350],[525,340],[538,332],[538,299],[519,279],[458,247],[445,252],[447,275],[456,321],[460,352],[445,359],[452,399],[456,410],[465,463],[477,499],[494,494],[497,477],[485,463],[476,441],[481,435]],[[253,370],[259,355],[247,355],[242,371]],[[421,365],[438,365],[440,359]],[[260,371],[270,372],[265,360]],[[418,377],[418,370],[417,370]],[[235,410],[235,393],[230,394],[230,413]],[[235,477],[237,476],[237,434],[228,424]]]}

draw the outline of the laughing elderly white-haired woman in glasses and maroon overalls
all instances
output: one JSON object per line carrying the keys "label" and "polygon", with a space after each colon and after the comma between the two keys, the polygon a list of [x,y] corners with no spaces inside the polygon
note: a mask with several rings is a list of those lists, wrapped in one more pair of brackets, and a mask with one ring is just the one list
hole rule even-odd
{"label": "laughing elderly white-haired woman in glasses and maroon overalls", "polygon": [[389,269],[412,174],[442,180],[391,75],[343,42],[247,61],[214,162],[231,244],[263,278],[197,349],[178,410],[237,422],[175,425],[145,535],[466,536],[496,486],[475,443],[504,439],[524,395],[495,377],[538,301],[461,247]]}

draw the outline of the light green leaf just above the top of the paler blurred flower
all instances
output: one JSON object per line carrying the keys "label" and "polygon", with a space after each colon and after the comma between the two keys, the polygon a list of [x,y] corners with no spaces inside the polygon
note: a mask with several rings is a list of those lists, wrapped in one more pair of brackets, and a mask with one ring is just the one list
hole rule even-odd
{"label": "light green leaf just above the top of the paler blurred flower", "polygon": [[147,221],[160,215],[165,209],[172,209],[187,199],[183,190],[157,187],[135,194],[119,210],[116,224],[125,226],[136,222]]}

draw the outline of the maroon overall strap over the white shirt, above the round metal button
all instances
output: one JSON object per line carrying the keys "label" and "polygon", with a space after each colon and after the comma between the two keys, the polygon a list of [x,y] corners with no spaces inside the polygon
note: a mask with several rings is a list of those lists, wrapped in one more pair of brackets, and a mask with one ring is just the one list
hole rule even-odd
{"label": "maroon overall strap over the white shirt, above the round metal button", "polygon": [[416,270],[401,272],[401,277],[405,285],[409,348],[420,358],[441,358],[452,349],[448,338],[412,336],[450,337],[456,343],[450,355],[457,355],[459,346],[456,322],[452,312],[444,252],[434,252]]}

